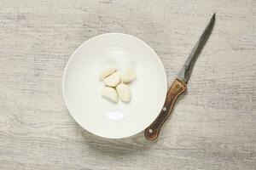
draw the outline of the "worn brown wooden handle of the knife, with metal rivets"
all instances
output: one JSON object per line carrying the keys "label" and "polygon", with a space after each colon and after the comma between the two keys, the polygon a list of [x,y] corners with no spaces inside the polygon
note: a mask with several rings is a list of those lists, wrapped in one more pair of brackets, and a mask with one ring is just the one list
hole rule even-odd
{"label": "worn brown wooden handle of the knife, with metal rivets", "polygon": [[157,139],[160,133],[160,128],[163,126],[164,122],[166,122],[167,118],[171,115],[173,105],[175,104],[178,96],[180,94],[183,94],[186,89],[187,85],[184,82],[176,79],[172,83],[172,87],[169,89],[166,95],[165,105],[160,111],[159,116],[156,117],[154,122],[149,127],[147,127],[144,132],[146,139],[151,141]]}

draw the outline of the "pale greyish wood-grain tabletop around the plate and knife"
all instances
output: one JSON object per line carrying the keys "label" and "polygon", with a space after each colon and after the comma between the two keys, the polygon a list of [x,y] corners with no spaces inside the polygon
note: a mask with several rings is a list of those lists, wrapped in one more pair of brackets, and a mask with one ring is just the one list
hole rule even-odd
{"label": "pale greyish wood-grain tabletop around the plate and knife", "polygon": [[[0,0],[0,169],[256,169],[256,1]],[[61,94],[67,60],[98,34],[143,39],[169,85],[216,13],[188,92],[155,142],[102,139]]]}

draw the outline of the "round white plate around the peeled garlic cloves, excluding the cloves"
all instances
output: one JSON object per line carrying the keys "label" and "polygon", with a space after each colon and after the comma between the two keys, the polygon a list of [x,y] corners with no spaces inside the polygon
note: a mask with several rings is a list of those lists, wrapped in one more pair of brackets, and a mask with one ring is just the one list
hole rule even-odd
{"label": "round white plate around the peeled garlic cloves, excluding the cloves", "polygon": [[[131,102],[103,99],[98,79],[106,65],[137,71],[129,85]],[[120,139],[140,133],[159,115],[166,99],[166,72],[159,57],[145,42],[121,33],[102,34],[84,42],[67,62],[62,90],[74,120],[90,133]]]}

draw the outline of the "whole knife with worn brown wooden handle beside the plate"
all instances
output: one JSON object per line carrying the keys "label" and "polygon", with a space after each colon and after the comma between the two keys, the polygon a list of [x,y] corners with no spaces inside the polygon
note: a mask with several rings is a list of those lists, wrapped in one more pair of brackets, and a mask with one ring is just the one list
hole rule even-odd
{"label": "whole knife with worn brown wooden handle beside the plate", "polygon": [[163,126],[164,122],[166,122],[167,118],[171,115],[173,106],[177,100],[177,98],[183,94],[183,92],[187,89],[187,82],[189,81],[189,77],[195,65],[195,61],[201,53],[201,49],[204,47],[207,42],[208,37],[212,32],[212,28],[215,22],[215,13],[212,15],[212,18],[207,25],[206,29],[201,34],[201,37],[196,42],[195,47],[192,49],[189,54],[188,59],[183,65],[182,70],[178,73],[177,78],[172,83],[171,88],[168,90],[166,94],[165,104],[160,111],[159,116],[156,117],[154,122],[145,129],[144,135],[148,140],[157,139],[160,133],[160,128]]}

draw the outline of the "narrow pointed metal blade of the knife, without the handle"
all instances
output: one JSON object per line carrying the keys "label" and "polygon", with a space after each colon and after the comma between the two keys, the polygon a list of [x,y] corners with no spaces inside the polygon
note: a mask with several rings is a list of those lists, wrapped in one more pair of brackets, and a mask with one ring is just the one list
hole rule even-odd
{"label": "narrow pointed metal blade of the knife, without the handle", "polygon": [[202,33],[201,37],[199,38],[198,42],[196,42],[195,47],[189,54],[188,59],[186,60],[185,64],[183,65],[183,69],[178,73],[177,79],[183,82],[188,82],[193,67],[195,65],[195,61],[198,58],[198,55],[201,53],[202,48],[204,47],[205,43],[207,42],[208,37],[212,32],[212,28],[215,22],[215,13],[212,15],[212,19],[210,20],[209,24],[207,25],[206,29]]}

